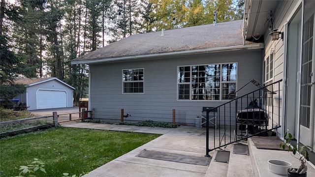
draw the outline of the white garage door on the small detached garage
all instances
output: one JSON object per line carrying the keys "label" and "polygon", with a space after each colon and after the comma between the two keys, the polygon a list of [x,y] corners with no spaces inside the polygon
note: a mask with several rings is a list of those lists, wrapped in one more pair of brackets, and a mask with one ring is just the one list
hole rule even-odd
{"label": "white garage door on the small detached garage", "polygon": [[65,108],[67,94],[58,90],[38,90],[36,93],[36,109]]}

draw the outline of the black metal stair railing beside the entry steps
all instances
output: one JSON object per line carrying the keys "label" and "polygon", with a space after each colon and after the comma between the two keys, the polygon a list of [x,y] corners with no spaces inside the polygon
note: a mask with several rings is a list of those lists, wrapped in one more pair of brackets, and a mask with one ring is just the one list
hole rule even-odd
{"label": "black metal stair railing beside the entry steps", "polygon": [[[282,80],[279,80],[261,86],[220,106],[207,109],[205,156],[210,157],[209,152],[212,150],[247,140],[252,136],[267,136],[272,130],[280,128],[281,82]],[[275,94],[278,96],[275,97]],[[215,109],[217,129],[209,127],[209,114],[215,116],[212,115],[215,114]],[[211,148],[210,139],[213,140]]]}

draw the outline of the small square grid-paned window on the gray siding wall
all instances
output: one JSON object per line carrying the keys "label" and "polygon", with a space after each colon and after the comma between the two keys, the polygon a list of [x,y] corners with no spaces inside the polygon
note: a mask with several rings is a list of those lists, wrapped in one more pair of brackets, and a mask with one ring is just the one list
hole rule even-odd
{"label": "small square grid-paned window on the gray siding wall", "polygon": [[123,93],[144,93],[144,68],[123,69]]}

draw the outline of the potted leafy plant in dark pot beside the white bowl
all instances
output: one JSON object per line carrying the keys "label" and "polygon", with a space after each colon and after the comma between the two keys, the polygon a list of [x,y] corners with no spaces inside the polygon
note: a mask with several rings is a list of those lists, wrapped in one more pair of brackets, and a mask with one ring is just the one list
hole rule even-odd
{"label": "potted leafy plant in dark pot beside the white bowl", "polygon": [[293,156],[298,152],[300,157],[301,165],[299,168],[289,168],[287,169],[288,177],[306,177],[307,173],[307,166],[306,161],[310,160],[309,152],[307,151],[307,148],[313,149],[309,146],[299,146],[297,143],[295,143],[293,146],[290,144],[292,139],[292,134],[289,132],[289,130],[286,130],[284,133],[284,140],[285,143],[280,144],[280,148],[283,148],[285,150],[285,147],[288,146],[288,151],[293,153]]}

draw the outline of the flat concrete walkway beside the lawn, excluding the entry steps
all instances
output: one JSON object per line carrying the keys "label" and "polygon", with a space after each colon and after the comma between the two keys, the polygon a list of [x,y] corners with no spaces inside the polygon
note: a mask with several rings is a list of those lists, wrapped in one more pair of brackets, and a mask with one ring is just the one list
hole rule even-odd
{"label": "flat concrete walkway beside the lawn, excluding the entry steps", "polygon": [[208,170],[208,166],[137,157],[143,150],[155,150],[206,158],[204,157],[205,129],[193,126],[152,128],[97,123],[74,123],[63,124],[63,126],[162,134],[157,139],[131,150],[84,177],[205,177]]}

